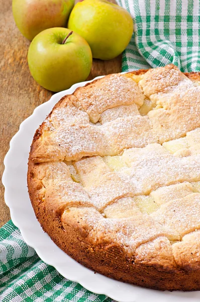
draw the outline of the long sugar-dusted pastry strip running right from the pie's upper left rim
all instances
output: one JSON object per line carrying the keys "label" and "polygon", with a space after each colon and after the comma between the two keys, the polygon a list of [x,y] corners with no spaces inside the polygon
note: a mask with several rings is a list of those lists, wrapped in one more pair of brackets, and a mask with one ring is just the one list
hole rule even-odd
{"label": "long sugar-dusted pastry strip running right from the pie's upper left rim", "polygon": [[102,126],[63,125],[46,136],[35,152],[35,163],[79,160],[86,156],[118,155],[128,147],[143,147],[157,142],[147,117],[119,118]]}

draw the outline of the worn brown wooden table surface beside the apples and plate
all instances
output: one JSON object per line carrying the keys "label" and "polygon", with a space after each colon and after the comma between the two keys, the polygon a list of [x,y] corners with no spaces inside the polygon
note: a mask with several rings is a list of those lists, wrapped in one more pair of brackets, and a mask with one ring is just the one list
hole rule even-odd
{"label": "worn brown wooden table surface beside the apples and plate", "polygon": [[[112,1],[114,2],[114,1]],[[9,142],[24,119],[40,104],[48,101],[52,92],[38,85],[29,72],[27,51],[30,45],[17,29],[12,15],[12,0],[0,0],[0,99],[1,146],[0,175],[4,172],[4,157]],[[88,80],[97,75],[121,71],[121,56],[101,61],[94,59]],[[0,226],[10,219],[10,211],[4,201],[4,186],[0,184]]]}

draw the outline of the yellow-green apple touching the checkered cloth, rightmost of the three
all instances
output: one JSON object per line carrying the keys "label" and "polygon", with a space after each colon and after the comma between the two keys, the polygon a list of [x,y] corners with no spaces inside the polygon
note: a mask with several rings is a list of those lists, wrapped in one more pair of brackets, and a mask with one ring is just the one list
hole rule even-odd
{"label": "yellow-green apple touching the checkered cloth, rightmost of the three", "polygon": [[73,8],[68,28],[89,44],[93,58],[119,55],[133,34],[133,19],[122,7],[105,0],[84,0]]}

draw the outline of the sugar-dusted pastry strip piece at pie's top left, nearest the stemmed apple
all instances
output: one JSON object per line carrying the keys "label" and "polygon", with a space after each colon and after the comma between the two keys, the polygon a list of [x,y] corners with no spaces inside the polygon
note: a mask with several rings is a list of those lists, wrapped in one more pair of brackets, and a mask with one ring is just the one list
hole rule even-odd
{"label": "sugar-dusted pastry strip piece at pie's top left, nearest the stemmed apple", "polygon": [[109,108],[131,104],[141,106],[145,98],[136,82],[121,74],[110,74],[88,83],[85,87],[78,88],[74,95],[93,123]]}

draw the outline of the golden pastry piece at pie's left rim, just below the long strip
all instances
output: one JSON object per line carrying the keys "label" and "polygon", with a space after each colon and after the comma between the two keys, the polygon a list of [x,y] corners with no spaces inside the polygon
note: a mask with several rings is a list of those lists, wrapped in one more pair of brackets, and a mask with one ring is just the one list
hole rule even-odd
{"label": "golden pastry piece at pie's left rim, just below the long strip", "polygon": [[40,202],[47,212],[60,216],[69,206],[93,206],[82,186],[71,179],[67,165],[50,162],[37,165],[32,177],[40,188]]}

